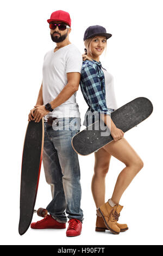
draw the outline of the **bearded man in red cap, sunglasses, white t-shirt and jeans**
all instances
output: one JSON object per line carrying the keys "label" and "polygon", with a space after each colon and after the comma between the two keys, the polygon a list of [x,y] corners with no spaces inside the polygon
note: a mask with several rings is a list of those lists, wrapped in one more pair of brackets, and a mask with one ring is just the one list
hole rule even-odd
{"label": "bearded man in red cap, sunglasses, white t-shirt and jeans", "polygon": [[70,15],[61,10],[54,11],[47,22],[56,47],[45,54],[39,96],[28,120],[39,122],[44,117],[42,161],[53,199],[47,206],[49,215],[32,223],[31,228],[66,228],[68,217],[66,235],[77,236],[82,230],[83,211],[80,209],[78,155],[72,148],[71,139],[80,130],[76,92],[83,60],[69,40]]}

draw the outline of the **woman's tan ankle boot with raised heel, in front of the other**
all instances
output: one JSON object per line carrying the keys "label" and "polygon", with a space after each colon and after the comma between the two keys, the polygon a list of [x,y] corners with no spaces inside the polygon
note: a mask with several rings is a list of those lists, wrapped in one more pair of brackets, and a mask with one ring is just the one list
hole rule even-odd
{"label": "woman's tan ankle boot with raised heel, in front of the other", "polygon": [[97,215],[103,218],[106,228],[114,234],[120,234],[121,229],[117,226],[118,217],[123,206],[120,204],[111,207],[108,202],[97,209]]}

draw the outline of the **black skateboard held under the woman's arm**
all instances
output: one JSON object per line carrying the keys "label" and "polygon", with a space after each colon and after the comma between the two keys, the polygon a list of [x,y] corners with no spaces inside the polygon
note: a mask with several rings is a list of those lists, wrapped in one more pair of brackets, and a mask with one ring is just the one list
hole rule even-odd
{"label": "black skateboard held under the woman's arm", "polygon": [[[111,119],[123,132],[140,124],[152,114],[153,105],[146,97],[137,97],[111,113]],[[100,125],[99,125],[100,124]],[[104,132],[105,128],[105,132]],[[105,136],[106,135],[106,136]],[[79,155],[89,155],[113,140],[102,119],[72,137],[72,147]]]}

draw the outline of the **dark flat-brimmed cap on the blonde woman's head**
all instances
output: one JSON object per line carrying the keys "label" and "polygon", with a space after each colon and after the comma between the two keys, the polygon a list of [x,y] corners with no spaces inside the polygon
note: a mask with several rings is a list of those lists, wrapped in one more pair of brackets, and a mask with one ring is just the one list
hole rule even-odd
{"label": "dark flat-brimmed cap on the blonde woman's head", "polygon": [[112,36],[111,34],[106,33],[106,29],[102,26],[90,26],[86,29],[84,33],[84,41],[96,35],[104,35],[106,36],[106,39],[111,38]]}

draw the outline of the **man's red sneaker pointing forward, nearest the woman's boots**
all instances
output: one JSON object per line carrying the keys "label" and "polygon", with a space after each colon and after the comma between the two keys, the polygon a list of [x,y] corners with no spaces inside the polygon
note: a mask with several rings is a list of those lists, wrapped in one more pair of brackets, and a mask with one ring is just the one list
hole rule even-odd
{"label": "man's red sneaker pointing forward, nearest the woman's boots", "polygon": [[66,236],[77,236],[80,235],[82,231],[82,222],[77,220],[76,218],[71,218],[68,221],[69,225],[66,231]]}

